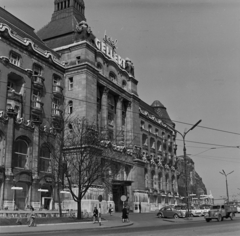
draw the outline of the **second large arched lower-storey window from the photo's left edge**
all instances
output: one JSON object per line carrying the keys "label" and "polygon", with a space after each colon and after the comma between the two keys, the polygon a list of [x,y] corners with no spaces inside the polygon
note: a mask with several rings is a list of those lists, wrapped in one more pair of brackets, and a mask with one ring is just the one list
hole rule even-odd
{"label": "second large arched lower-storey window from the photo's left edge", "polygon": [[14,142],[13,167],[24,168],[28,158],[28,143],[24,140]]}

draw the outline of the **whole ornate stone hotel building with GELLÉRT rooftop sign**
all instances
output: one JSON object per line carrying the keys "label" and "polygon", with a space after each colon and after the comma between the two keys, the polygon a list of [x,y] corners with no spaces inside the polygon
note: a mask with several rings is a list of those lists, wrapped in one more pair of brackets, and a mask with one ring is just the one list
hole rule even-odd
{"label": "whole ornate stone hotel building with GELL\u00c9RT rooftop sign", "polygon": [[[0,207],[57,207],[43,140],[58,132],[63,107],[94,122],[114,157],[127,160],[111,193],[92,187],[83,210],[92,211],[99,194],[105,210],[121,211],[122,195],[135,212],[139,203],[149,212],[178,202],[176,137],[168,128],[175,124],[166,108],[140,99],[133,62],[117,54],[116,41],[93,34],[83,0],[55,0],[54,7],[37,35],[0,8]],[[62,199],[64,209],[76,208],[69,195]]]}

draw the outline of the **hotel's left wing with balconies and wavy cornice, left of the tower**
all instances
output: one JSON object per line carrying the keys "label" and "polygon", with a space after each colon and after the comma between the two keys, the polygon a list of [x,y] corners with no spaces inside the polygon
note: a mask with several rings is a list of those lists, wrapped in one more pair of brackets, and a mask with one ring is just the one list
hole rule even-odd
{"label": "hotel's left wing with balconies and wavy cornice, left of the tower", "polygon": [[[50,148],[64,67],[34,29],[0,8],[0,208],[53,207]],[[41,192],[41,188],[48,192]]]}

